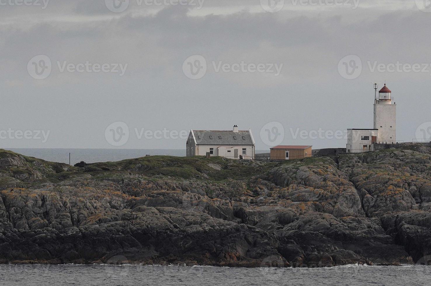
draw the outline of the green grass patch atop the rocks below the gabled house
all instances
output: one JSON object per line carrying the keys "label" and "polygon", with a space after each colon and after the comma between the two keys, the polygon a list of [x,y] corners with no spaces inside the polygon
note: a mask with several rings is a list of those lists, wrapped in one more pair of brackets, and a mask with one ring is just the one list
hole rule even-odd
{"label": "green grass patch atop the rocks below the gabled house", "polygon": [[[281,162],[253,162],[248,160],[233,160],[222,157],[207,159],[204,156],[196,157],[174,157],[174,156],[150,156],[136,159],[127,159],[119,162],[100,162],[88,164],[85,168],[69,167],[66,164],[47,162],[28,156],[23,156],[12,151],[0,149],[0,159],[6,157],[20,157],[23,167],[0,168],[0,173],[14,177],[20,174],[31,176],[40,171],[46,180],[53,183],[70,179],[81,174],[91,174],[94,179],[105,180],[127,175],[140,175],[148,179],[162,179],[162,177],[173,177],[184,180],[210,180],[212,182],[226,182],[230,180],[249,180],[250,178],[265,173],[270,169],[281,165],[292,165],[297,168],[302,165],[327,163],[324,158],[305,158]],[[24,162],[23,162],[24,161]],[[34,162],[39,164],[34,165]],[[38,166],[41,167],[38,167]],[[219,165],[220,170],[212,168],[211,165]],[[63,170],[64,167],[69,171]],[[45,168],[45,170],[41,170]],[[5,181],[5,180],[3,180]]]}

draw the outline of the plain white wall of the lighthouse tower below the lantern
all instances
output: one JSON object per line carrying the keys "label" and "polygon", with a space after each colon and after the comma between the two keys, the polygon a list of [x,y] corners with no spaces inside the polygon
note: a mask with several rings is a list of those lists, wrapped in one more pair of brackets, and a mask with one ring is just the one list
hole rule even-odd
{"label": "plain white wall of the lighthouse tower below the lantern", "polygon": [[381,104],[381,102],[377,100],[374,104],[374,126],[378,129],[377,141],[395,143],[397,142],[397,105]]}

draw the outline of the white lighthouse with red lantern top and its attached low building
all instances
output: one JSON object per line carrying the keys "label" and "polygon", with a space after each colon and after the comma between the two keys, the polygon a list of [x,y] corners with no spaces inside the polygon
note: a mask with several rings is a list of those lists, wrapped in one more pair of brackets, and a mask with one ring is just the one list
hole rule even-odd
{"label": "white lighthouse with red lantern top and its attached low building", "polygon": [[374,128],[347,129],[347,153],[361,153],[373,150],[373,143],[396,143],[397,105],[393,102],[392,92],[384,84],[377,96],[374,84]]}

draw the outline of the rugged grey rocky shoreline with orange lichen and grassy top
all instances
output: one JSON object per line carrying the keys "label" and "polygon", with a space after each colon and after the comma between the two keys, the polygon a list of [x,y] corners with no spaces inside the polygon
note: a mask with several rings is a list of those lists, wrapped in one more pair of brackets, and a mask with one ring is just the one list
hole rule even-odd
{"label": "rugged grey rocky shoreline with orange lichen and grassy top", "polygon": [[152,156],[82,168],[0,150],[1,264],[429,264],[431,155]]}

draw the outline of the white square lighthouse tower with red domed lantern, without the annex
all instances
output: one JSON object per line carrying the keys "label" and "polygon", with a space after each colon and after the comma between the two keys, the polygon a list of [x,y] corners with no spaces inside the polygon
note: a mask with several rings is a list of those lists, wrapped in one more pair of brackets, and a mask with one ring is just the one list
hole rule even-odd
{"label": "white square lighthouse tower with red domed lantern, without the annex", "polygon": [[377,84],[374,84],[374,129],[378,129],[377,141],[380,143],[397,142],[397,105],[394,103],[392,92],[384,84],[378,92]]}

